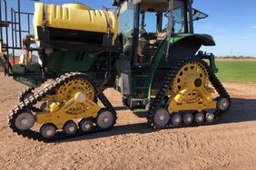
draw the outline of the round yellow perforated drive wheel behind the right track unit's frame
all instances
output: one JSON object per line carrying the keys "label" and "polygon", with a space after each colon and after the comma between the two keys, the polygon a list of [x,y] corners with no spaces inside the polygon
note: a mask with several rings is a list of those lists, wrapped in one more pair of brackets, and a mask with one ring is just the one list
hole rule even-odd
{"label": "round yellow perforated drive wheel behind the right track unit's frame", "polygon": [[[173,80],[172,91],[175,94],[178,94],[181,90],[186,89],[190,84],[194,84],[202,88],[208,87],[208,73],[204,66],[199,62],[190,61],[182,67],[176,75],[176,78]],[[194,103],[201,99],[202,97],[200,94],[197,91],[192,90],[188,95],[186,95],[183,102]]]}

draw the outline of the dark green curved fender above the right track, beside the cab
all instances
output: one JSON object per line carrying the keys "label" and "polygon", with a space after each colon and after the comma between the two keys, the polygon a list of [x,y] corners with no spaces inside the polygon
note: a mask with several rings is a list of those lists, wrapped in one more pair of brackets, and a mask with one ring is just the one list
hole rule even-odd
{"label": "dark green curved fender above the right track, beside the cab", "polygon": [[[170,43],[169,56],[165,58],[168,43]],[[157,89],[161,86],[166,72],[171,69],[177,60],[195,56],[202,45],[214,46],[215,42],[212,36],[208,34],[181,33],[173,35],[170,42],[162,42],[152,64],[153,74],[157,75],[153,76],[152,89]]]}

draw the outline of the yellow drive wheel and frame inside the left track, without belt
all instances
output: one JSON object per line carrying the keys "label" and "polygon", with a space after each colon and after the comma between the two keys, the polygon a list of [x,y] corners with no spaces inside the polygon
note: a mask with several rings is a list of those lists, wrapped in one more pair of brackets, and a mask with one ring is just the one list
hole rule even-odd
{"label": "yellow drive wheel and frame inside the left track, without belt", "polygon": [[[83,103],[77,101],[77,95],[83,94]],[[96,118],[101,109],[94,102],[94,87],[88,80],[70,80],[55,91],[54,95],[46,96],[42,101],[50,103],[50,110],[36,113],[36,123],[53,123],[62,129],[69,120],[79,118]]]}

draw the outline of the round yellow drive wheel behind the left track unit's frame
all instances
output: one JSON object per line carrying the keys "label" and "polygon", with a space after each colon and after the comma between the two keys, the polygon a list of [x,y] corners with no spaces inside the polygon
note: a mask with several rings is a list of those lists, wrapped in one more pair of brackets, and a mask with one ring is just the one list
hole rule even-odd
{"label": "round yellow drive wheel behind the left track unit's frame", "polygon": [[[94,87],[88,80],[70,80],[61,86],[55,93],[55,100],[63,103],[73,98],[77,92],[81,92],[86,98],[94,101],[95,91]],[[72,109],[67,111],[68,114],[77,115],[85,112],[87,106],[85,103],[77,103]]]}

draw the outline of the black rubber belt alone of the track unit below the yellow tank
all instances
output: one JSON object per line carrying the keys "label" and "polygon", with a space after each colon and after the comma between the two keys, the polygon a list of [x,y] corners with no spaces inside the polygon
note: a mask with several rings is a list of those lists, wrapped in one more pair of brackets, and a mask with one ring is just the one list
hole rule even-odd
{"label": "black rubber belt alone of the track unit below the yellow tank", "polygon": [[[44,142],[54,142],[56,140],[62,140],[62,139],[67,139],[67,138],[72,138],[72,137],[80,137],[84,136],[85,134],[91,134],[95,132],[100,132],[100,131],[105,131],[109,130],[112,127],[109,127],[107,129],[101,129],[100,127],[94,126],[94,128],[90,132],[83,132],[81,130],[78,130],[76,134],[74,135],[66,135],[64,132],[57,132],[57,134],[52,137],[52,138],[44,138],[40,135],[38,131],[34,131],[32,129],[29,130],[20,130],[17,127],[15,127],[15,119],[22,113],[24,113],[27,110],[36,110],[39,111],[40,109],[34,109],[34,105],[41,101],[44,97],[47,95],[54,94],[55,90],[57,90],[59,87],[64,85],[64,83],[68,82],[69,80],[75,80],[77,78],[85,78],[89,80],[92,85],[94,86],[94,90],[97,93],[98,98],[102,101],[104,107],[106,109],[109,109],[110,111],[113,112],[114,119],[116,120],[117,115],[116,112],[113,109],[112,104],[109,102],[109,100],[104,96],[103,92],[97,92],[96,85],[94,84],[94,81],[91,80],[87,75],[80,73],[80,72],[71,72],[71,73],[66,73],[60,78],[57,78],[56,80],[53,80],[50,84],[48,84],[46,87],[44,87],[43,90],[39,90],[37,93],[34,93],[29,99],[25,99],[24,101],[20,102],[15,109],[12,109],[10,111],[10,114],[8,116],[8,125],[9,127],[19,136],[22,137],[27,137],[30,139],[34,139],[37,141],[44,141]],[[116,123],[114,121],[113,125]]]}

